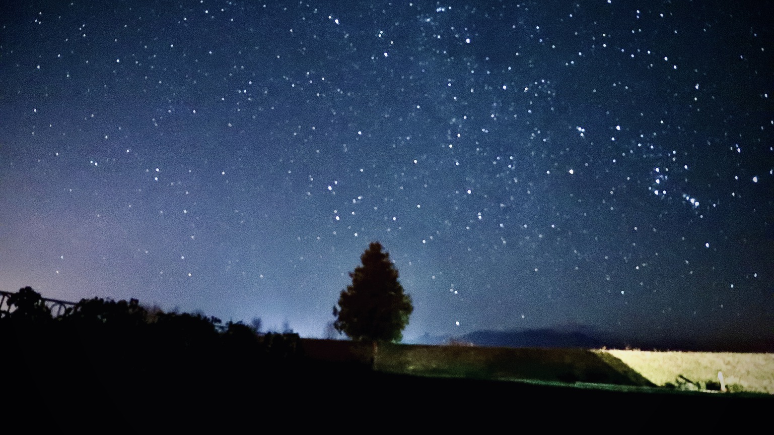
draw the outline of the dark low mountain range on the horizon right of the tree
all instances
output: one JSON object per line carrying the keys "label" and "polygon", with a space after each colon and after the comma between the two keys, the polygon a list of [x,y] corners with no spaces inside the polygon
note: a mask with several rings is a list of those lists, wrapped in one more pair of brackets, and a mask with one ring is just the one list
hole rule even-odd
{"label": "dark low mountain range on the horizon right of the tree", "polygon": [[609,333],[543,328],[536,330],[478,330],[461,337],[425,333],[409,344],[457,344],[488,347],[577,347],[598,349],[695,350],[729,352],[774,352],[774,340],[697,340],[654,338],[628,340]]}

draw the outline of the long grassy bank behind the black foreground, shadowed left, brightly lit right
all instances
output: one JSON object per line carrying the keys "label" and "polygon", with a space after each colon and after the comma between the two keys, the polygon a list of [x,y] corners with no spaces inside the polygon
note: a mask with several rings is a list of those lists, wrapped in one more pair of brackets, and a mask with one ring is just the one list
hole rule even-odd
{"label": "long grassy bank behind the black foreground, shadowed left, brightly lit right", "polygon": [[357,362],[383,373],[564,385],[618,385],[774,394],[774,354],[382,344],[303,340],[313,359]]}

